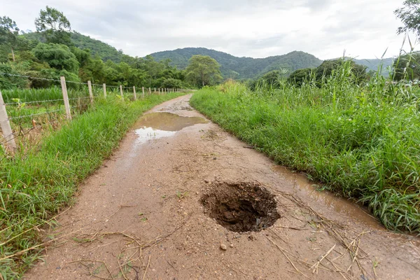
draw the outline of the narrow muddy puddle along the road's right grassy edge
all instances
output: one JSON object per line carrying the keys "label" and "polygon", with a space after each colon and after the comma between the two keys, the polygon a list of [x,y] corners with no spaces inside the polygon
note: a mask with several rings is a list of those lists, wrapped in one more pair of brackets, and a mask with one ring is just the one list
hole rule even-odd
{"label": "narrow muddy puddle along the road's right grassy edge", "polygon": [[379,221],[370,216],[362,207],[358,204],[345,200],[342,197],[336,197],[328,190],[316,190],[316,184],[309,181],[303,174],[296,174],[291,172],[286,167],[274,165],[272,170],[279,174],[281,178],[293,182],[293,190],[296,193],[303,193],[309,196],[312,200],[318,203],[326,205],[328,208],[337,211],[342,214],[346,214],[349,218],[354,221],[361,222],[365,225],[370,225],[372,228],[383,229]]}

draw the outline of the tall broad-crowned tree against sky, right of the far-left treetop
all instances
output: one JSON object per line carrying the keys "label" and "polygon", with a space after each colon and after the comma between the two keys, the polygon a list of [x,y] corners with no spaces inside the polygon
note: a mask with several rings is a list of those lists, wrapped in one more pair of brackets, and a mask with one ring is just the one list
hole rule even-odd
{"label": "tall broad-crowned tree against sky, right of the far-left treetop", "polygon": [[71,45],[71,26],[66,16],[55,8],[46,7],[35,19],[36,31],[44,32],[48,43]]}

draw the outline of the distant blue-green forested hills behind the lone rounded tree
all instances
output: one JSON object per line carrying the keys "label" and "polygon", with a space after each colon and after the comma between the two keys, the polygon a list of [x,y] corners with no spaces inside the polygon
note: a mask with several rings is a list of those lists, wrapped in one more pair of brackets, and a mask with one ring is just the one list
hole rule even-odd
{"label": "distant blue-green forested hills behind the lone rounded tree", "polygon": [[179,69],[185,69],[188,59],[193,55],[209,55],[221,64],[221,71],[225,78],[256,78],[268,71],[287,69],[288,73],[296,69],[316,67],[322,63],[321,59],[306,52],[294,51],[287,55],[277,55],[266,58],[235,57],[225,52],[209,50],[207,48],[183,48],[166,50],[151,54],[158,61],[171,59],[172,64]]}

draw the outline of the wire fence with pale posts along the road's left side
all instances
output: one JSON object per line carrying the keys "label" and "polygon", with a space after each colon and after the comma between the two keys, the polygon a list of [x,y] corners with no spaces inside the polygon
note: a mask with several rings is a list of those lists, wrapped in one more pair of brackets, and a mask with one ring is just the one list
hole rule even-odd
{"label": "wire fence with pale posts along the road's left side", "polygon": [[[66,80],[63,76],[58,80],[55,78],[32,77],[15,73],[0,72],[0,75],[27,78],[31,80],[53,81],[61,84],[61,92],[59,92],[58,87],[56,86],[53,87],[52,90],[50,89],[51,92],[45,90],[45,92],[38,94],[38,96],[34,94],[36,93],[36,90],[28,90],[25,94],[21,94],[22,90],[15,90],[14,92],[6,92],[6,94],[3,95],[0,88],[0,125],[3,134],[3,141],[0,140],[0,144],[5,145],[11,150],[16,148],[15,139],[17,137],[25,135],[28,130],[31,131],[40,126],[36,125],[36,123],[39,121],[38,117],[43,115],[53,116],[56,119],[64,119],[65,116],[67,120],[71,120],[72,116],[81,114],[86,111],[89,106],[92,106],[92,104],[94,104],[94,99],[97,99],[98,97],[106,98],[107,94],[120,95],[124,99],[135,101],[139,98],[145,98],[150,94],[186,91],[182,88],[127,87],[123,85],[106,85],[105,83],[99,85],[91,83],[90,81],[81,83]],[[67,84],[78,84],[83,87],[79,87],[78,90],[70,89],[68,91],[66,87]],[[136,90],[139,90],[139,92]],[[62,95],[62,98],[59,97],[59,95]],[[3,97],[7,102],[4,102]],[[36,98],[39,99],[33,100]],[[12,130],[10,123],[13,124],[14,130]],[[25,129],[27,130],[26,132]]]}

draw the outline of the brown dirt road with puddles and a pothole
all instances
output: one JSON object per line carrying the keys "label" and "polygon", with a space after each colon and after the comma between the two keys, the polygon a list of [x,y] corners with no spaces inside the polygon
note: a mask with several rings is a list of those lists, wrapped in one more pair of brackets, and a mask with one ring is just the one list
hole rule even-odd
{"label": "brown dirt road with puddles and a pothole", "polygon": [[419,239],[316,191],[189,98],[139,120],[45,229],[55,241],[27,279],[419,279]]}

